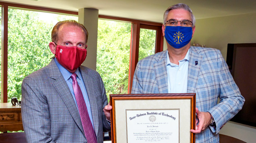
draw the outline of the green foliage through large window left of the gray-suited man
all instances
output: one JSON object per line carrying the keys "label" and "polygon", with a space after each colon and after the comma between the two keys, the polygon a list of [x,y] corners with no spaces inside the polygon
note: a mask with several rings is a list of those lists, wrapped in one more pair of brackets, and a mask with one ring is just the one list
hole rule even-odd
{"label": "green foliage through large window left of the gray-suited man", "polygon": [[54,56],[49,49],[51,30],[56,24],[53,17],[59,20],[71,17],[52,14],[53,17],[43,21],[40,14],[43,13],[8,9],[8,102],[12,97],[21,100],[24,77],[46,66]]}

